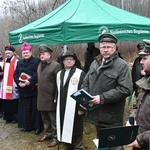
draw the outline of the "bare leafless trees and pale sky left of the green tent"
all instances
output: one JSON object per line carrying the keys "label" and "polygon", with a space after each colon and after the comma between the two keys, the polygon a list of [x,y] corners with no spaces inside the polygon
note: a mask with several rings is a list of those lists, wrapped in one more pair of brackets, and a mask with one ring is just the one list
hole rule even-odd
{"label": "bare leafless trees and pale sky left of the green tent", "polygon": [[8,33],[56,9],[65,0],[5,0],[1,17],[0,47],[8,44]]}

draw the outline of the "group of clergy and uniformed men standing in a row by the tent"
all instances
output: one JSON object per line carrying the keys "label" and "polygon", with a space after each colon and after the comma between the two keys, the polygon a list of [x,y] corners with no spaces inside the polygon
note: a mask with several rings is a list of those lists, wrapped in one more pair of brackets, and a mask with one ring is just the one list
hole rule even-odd
{"label": "group of clergy and uniformed men standing in a row by the tent", "polygon": [[[117,47],[117,38],[110,33],[98,37],[99,49],[88,43],[85,65],[79,66],[77,55],[70,50],[52,60],[53,50],[45,44],[38,48],[39,58],[32,55],[32,46],[24,42],[22,58],[15,48],[5,47],[0,53],[0,117],[7,123],[35,134],[44,131],[38,142],[48,140],[48,147],[64,143],[64,150],[83,150],[83,117],[99,130],[123,126],[126,98],[135,91],[136,104],[130,116],[139,125],[138,134],[128,146],[148,150],[150,142],[150,40],[137,45],[138,55],[132,71]],[[92,95],[92,111],[72,99],[71,94],[83,88]],[[92,139],[91,139],[92,140]],[[109,148],[123,150],[124,146]]]}

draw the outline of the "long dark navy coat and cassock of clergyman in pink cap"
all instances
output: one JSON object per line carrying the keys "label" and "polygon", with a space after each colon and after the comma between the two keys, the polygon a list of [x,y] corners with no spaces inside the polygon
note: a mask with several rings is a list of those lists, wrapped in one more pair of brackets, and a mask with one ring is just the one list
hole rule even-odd
{"label": "long dark navy coat and cassock of clergyman in pink cap", "polygon": [[[24,128],[25,130],[42,128],[42,121],[37,110],[37,67],[39,62],[40,59],[33,56],[28,60],[19,60],[14,74],[20,95],[18,127]],[[31,76],[29,86],[19,86],[21,73],[26,73]]]}

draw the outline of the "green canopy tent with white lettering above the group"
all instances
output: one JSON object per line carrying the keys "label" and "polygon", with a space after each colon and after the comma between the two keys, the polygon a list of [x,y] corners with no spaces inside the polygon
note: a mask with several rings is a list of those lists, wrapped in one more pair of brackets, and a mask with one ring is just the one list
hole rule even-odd
{"label": "green canopy tent with white lettering above the group", "polygon": [[46,16],[9,32],[10,43],[24,41],[39,44],[75,44],[97,42],[104,31],[120,41],[137,41],[150,37],[150,19],[102,0],[68,0]]}

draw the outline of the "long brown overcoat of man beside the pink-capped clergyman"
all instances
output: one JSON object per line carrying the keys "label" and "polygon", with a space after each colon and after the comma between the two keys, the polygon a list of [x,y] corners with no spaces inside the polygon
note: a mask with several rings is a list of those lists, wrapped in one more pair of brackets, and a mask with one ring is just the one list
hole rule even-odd
{"label": "long brown overcoat of man beside the pink-capped clergyman", "polygon": [[56,75],[61,65],[49,60],[46,64],[40,62],[38,66],[38,101],[39,111],[56,110],[54,99],[57,91]]}

